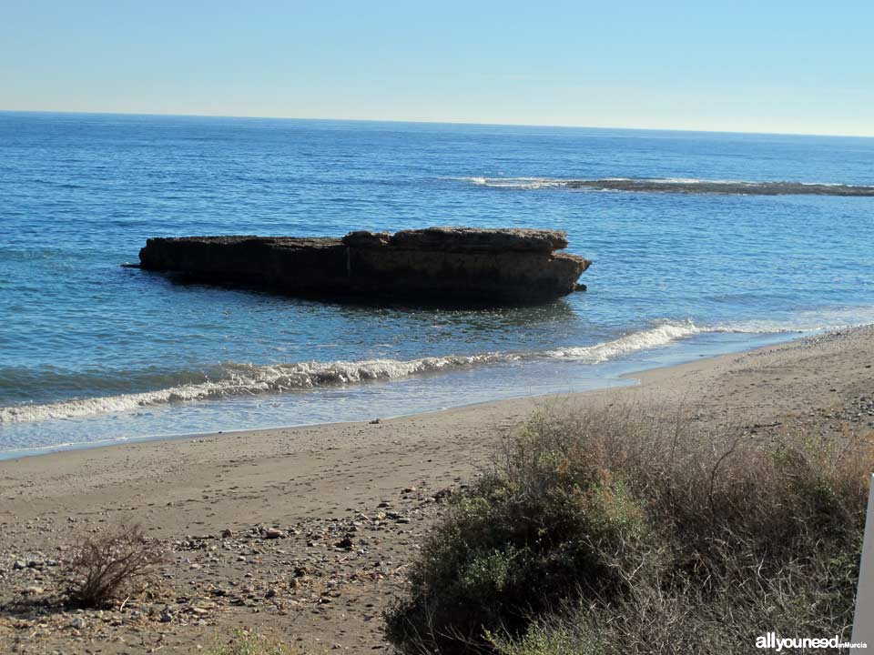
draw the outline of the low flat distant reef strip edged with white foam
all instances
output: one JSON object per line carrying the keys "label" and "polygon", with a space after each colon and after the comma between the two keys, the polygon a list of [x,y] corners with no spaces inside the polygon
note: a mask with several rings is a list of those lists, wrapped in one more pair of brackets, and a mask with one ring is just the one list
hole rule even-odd
{"label": "low flat distant reef strip edged with white foam", "polygon": [[733,196],[874,196],[874,186],[833,182],[747,182],[683,177],[605,177],[562,179],[550,177],[460,177],[476,186],[503,189],[565,188],[590,191],[633,191]]}

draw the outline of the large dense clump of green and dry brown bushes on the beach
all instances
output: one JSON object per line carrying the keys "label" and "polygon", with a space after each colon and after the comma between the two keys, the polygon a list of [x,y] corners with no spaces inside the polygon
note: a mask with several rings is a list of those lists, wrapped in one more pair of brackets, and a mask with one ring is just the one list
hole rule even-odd
{"label": "large dense clump of green and dry brown bushes on the beach", "polygon": [[456,494],[386,617],[406,653],[747,653],[849,637],[869,439],[544,412]]}

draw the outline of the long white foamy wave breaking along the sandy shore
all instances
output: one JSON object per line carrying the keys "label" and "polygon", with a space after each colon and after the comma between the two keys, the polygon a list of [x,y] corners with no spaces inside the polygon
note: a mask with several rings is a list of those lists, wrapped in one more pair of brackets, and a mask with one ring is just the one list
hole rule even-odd
{"label": "long white foamy wave breaking along the sandy shore", "polygon": [[[562,358],[598,364],[638,350],[666,346],[702,332],[746,331],[729,328],[697,328],[691,322],[665,322],[653,328],[611,341],[580,348],[559,348],[533,352],[493,352],[481,355],[429,357],[410,360],[369,359],[364,361],[298,362],[255,366],[228,364],[223,376],[203,382],[180,384],[156,391],[127,393],[97,398],[76,398],[42,405],[0,408],[0,424],[81,418],[109,412],[129,411],[169,403],[202,401],[295,390],[340,387],[371,380],[391,380],[428,373],[448,372],[489,364]],[[188,376],[187,376],[188,377]]]}

